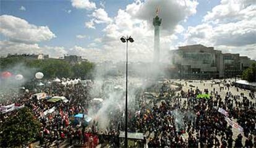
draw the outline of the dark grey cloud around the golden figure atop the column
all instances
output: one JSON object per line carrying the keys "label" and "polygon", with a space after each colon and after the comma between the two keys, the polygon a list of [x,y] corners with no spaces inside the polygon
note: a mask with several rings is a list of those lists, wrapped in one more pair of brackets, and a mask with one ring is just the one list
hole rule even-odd
{"label": "dark grey cloud around the golden figure atop the column", "polygon": [[134,2],[126,7],[126,11],[135,19],[147,20],[152,27],[153,16],[156,15],[156,7],[160,7],[159,17],[162,19],[161,27],[168,32],[186,20],[187,17],[197,12],[197,1],[145,1]]}

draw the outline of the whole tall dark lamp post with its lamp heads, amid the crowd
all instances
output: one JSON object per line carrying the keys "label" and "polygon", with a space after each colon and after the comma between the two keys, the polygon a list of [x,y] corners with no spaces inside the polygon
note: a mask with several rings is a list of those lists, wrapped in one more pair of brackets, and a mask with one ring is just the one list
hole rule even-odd
{"label": "whole tall dark lamp post with its lamp heads, amid the crowd", "polygon": [[122,43],[126,43],[126,110],[125,110],[125,126],[124,126],[124,147],[128,147],[128,136],[127,136],[127,120],[128,120],[128,42],[130,41],[130,43],[134,42],[134,39],[131,36],[122,36],[122,38],[120,38]]}

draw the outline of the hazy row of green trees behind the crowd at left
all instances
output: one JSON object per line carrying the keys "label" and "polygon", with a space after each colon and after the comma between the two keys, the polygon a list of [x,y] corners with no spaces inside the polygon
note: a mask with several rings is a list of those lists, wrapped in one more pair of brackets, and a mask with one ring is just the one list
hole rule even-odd
{"label": "hazy row of green trees behind the crowd at left", "polygon": [[[22,65],[22,66],[19,66]],[[6,57],[0,59],[0,72],[9,71],[11,73],[22,72],[23,66],[31,72],[42,72],[44,78],[87,78],[93,76],[95,64],[92,62],[79,62],[71,64],[60,59],[25,59],[23,57]],[[16,68],[14,68],[16,67]],[[20,67],[20,68],[19,68]],[[22,74],[22,73],[20,73]]]}

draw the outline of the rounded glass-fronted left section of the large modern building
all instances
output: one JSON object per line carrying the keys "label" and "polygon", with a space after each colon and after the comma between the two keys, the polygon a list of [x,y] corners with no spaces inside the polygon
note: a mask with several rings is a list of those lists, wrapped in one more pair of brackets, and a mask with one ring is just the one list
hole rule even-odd
{"label": "rounded glass-fronted left section of the large modern building", "polygon": [[201,44],[181,46],[171,51],[171,60],[179,69],[179,75],[184,78],[223,76],[223,56],[221,51]]}

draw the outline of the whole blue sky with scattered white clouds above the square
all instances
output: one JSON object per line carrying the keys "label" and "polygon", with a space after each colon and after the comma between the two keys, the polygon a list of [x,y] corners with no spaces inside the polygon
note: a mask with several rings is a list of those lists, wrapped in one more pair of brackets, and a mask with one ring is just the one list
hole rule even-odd
{"label": "whole blue sky with scattered white clouds above the square", "polygon": [[[78,3],[75,3],[74,1]],[[85,3],[79,3],[81,1]],[[213,33],[214,35],[211,35],[210,38],[213,40],[213,44],[207,42],[209,39],[207,39],[208,35],[206,34],[208,34],[209,29],[211,29],[211,31],[215,31],[219,29],[217,27],[221,28],[221,25],[223,25],[222,28],[224,28],[226,25],[228,25],[228,23],[238,23],[239,21],[244,21],[244,18],[241,17],[237,20],[232,20],[232,22],[224,22],[223,18],[230,17],[230,14],[232,14],[232,9],[230,12],[226,12],[225,7],[232,7],[233,4],[237,5],[237,2],[234,1],[228,2],[229,4],[226,5],[225,1],[226,0],[184,0],[171,2],[166,0],[1,1],[1,16],[13,16],[16,19],[19,18],[25,20],[29,25],[35,25],[36,27],[48,27],[49,30],[46,31],[46,34],[53,33],[54,35],[42,36],[42,38],[36,39],[36,41],[33,43],[23,43],[22,41],[24,39],[21,39],[22,41],[17,43],[17,40],[26,37],[20,35],[18,38],[15,36],[14,31],[12,32],[11,30],[8,30],[8,28],[4,28],[5,30],[14,33],[14,35],[11,36],[10,34],[12,33],[6,33],[6,31],[0,32],[3,46],[0,50],[7,53],[6,50],[11,48],[7,47],[7,45],[11,44],[7,44],[7,41],[10,40],[9,42],[12,42],[12,45],[19,47],[25,46],[25,48],[27,48],[26,50],[24,49],[24,51],[21,49],[20,52],[33,52],[32,46],[36,46],[40,52],[49,49],[58,50],[59,47],[61,47],[62,52],[59,52],[59,55],[63,53],[79,54],[82,51],[85,51],[87,53],[86,55],[95,52],[95,56],[112,54],[109,47],[113,46],[118,48],[120,46],[115,46],[115,43],[113,43],[113,40],[111,39],[118,39],[118,35],[121,35],[122,33],[129,32],[136,34],[137,31],[134,29],[136,24],[134,22],[138,22],[141,28],[137,28],[137,30],[145,29],[143,32],[141,32],[142,35],[145,36],[138,36],[139,43],[132,47],[134,48],[134,51],[131,52],[143,55],[151,52],[151,49],[146,49],[151,48],[151,45],[146,47],[146,45],[143,45],[143,41],[140,39],[146,39],[147,37],[150,39],[150,35],[152,33],[152,30],[150,30],[150,19],[153,19],[154,17],[154,15],[151,16],[151,14],[155,12],[155,6],[163,5],[162,9],[160,7],[160,17],[163,17],[163,21],[165,23],[169,23],[166,24],[168,27],[163,28],[163,47],[161,47],[163,50],[173,49],[179,45],[200,43],[205,44],[205,46],[215,46],[223,52],[237,52],[236,46],[230,46],[225,43],[219,44],[217,41],[218,39],[216,39],[216,36],[218,35],[215,35],[215,33]],[[239,7],[240,11],[248,10],[249,13],[250,10],[255,9],[254,3],[247,5],[246,0],[239,0],[239,2],[238,4],[241,5]],[[171,10],[164,9],[164,6],[168,6],[168,4],[170,7],[169,9]],[[131,7],[130,9],[128,9],[129,6]],[[252,9],[249,9],[248,7],[251,6]],[[23,9],[21,9],[21,7]],[[215,7],[217,7],[217,9],[214,10],[213,8]],[[225,12],[226,15],[218,15],[218,13],[221,14],[221,11]],[[124,18],[122,18],[122,16],[124,16]],[[237,16],[240,16],[240,14],[237,14]],[[5,19],[7,17],[5,17]],[[209,19],[204,20],[205,17]],[[223,22],[221,22],[221,19],[223,19]],[[254,18],[250,20],[254,20]],[[8,23],[8,20],[1,20],[1,22],[3,21],[5,21],[3,24],[10,24]],[[88,27],[85,25],[85,23],[90,21],[93,22],[93,27]],[[122,22],[126,22],[124,25],[127,25],[127,28],[120,27]],[[147,25],[142,25],[143,23],[147,23]],[[252,25],[254,25],[255,21],[250,23],[253,23]],[[181,31],[176,30],[177,25],[179,25],[179,28],[182,28]],[[6,25],[4,25],[4,27],[6,27]],[[202,30],[205,30],[205,32],[202,33]],[[45,30],[42,29],[41,31]],[[234,30],[231,30],[231,32],[228,32],[227,34],[232,33],[232,31]],[[26,33],[28,32],[25,32],[24,36],[26,36]],[[204,38],[195,38],[195,36],[199,35],[200,33],[204,36]],[[252,30],[252,33],[255,33],[254,30]],[[138,34],[140,34],[140,32]],[[33,35],[35,35],[34,32]],[[85,36],[85,38],[77,38],[78,35],[82,37]],[[116,38],[113,37],[114,35],[117,35]],[[27,36],[30,36],[30,34]],[[109,39],[111,41],[109,41]],[[227,41],[227,43],[233,42],[234,41]],[[48,49],[45,49],[46,46]],[[137,47],[140,49],[136,49]],[[145,49],[142,50],[141,48],[143,47],[145,47]],[[249,42],[249,44],[245,44],[243,47],[245,48],[244,50],[252,50],[255,48],[255,43],[252,41]],[[14,51],[16,52],[17,50]],[[39,51],[35,51],[35,53]],[[99,54],[98,52],[101,53]],[[48,51],[48,53],[51,54],[50,51]],[[56,52],[53,52],[53,57],[59,56],[58,54],[54,55],[54,53]],[[241,54],[245,53],[241,52]],[[252,56],[252,58],[255,57],[255,55]]]}

